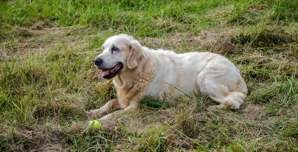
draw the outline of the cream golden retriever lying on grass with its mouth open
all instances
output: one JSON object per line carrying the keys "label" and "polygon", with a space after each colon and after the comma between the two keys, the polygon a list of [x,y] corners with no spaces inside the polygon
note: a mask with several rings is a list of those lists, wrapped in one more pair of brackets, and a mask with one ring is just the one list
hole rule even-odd
{"label": "cream golden retriever lying on grass with its mouth open", "polygon": [[[117,99],[88,114],[107,114],[99,120],[136,109],[145,96],[175,100],[181,92],[205,94],[220,103],[216,108],[239,109],[247,87],[235,65],[211,52],[175,53],[141,46],[133,37],[120,34],[108,38],[103,52],[94,58],[98,78],[113,79]],[[166,95],[166,96],[165,96]]]}

